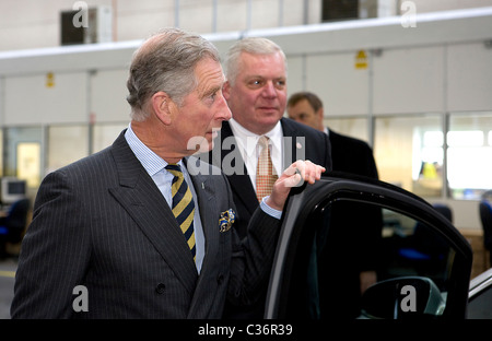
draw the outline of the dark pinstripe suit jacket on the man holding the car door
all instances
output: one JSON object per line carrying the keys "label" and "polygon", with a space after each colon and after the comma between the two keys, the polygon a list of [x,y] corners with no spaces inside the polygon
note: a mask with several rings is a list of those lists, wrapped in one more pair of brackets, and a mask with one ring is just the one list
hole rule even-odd
{"label": "dark pinstripe suit jacket on the man holding the car door", "polygon": [[[188,169],[200,166],[188,160]],[[191,176],[206,257],[198,275],[165,199],[124,133],[46,176],[22,244],[12,318],[220,318],[226,297],[250,303],[270,270],[279,221],[258,210],[250,238],[219,231],[234,208],[223,175]],[[78,285],[89,311],[73,309]]]}

